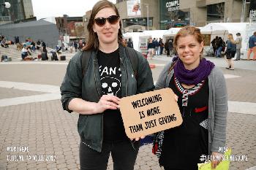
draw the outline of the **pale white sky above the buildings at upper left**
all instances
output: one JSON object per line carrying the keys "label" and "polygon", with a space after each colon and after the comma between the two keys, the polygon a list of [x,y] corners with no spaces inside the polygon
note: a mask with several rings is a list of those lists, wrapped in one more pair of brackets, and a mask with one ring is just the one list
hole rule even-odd
{"label": "pale white sky above the buildings at upper left", "polygon": [[[110,0],[116,3],[116,0]],[[82,17],[92,9],[97,0],[32,0],[37,20],[48,17]]]}

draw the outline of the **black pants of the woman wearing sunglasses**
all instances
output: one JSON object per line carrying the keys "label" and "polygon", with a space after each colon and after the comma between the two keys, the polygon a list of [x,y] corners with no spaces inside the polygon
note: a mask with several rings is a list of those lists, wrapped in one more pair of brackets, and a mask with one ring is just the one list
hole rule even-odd
{"label": "black pants of the woman wearing sunglasses", "polygon": [[133,170],[138,155],[139,143],[135,143],[135,149],[129,141],[102,144],[102,152],[91,149],[80,142],[80,170],[106,170],[108,158],[113,159],[114,170]]}

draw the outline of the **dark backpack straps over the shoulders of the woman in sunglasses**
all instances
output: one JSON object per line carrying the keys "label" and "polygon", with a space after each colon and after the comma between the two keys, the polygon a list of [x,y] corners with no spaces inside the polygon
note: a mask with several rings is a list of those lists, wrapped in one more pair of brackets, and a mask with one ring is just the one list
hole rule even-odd
{"label": "dark backpack straps over the shoulders of the woman in sunglasses", "polygon": [[[128,55],[129,61],[132,64],[132,69],[135,74],[135,78],[137,80],[138,55],[133,48],[130,48],[130,47],[124,47],[124,48],[125,48],[125,52]],[[86,71],[88,69],[90,59],[91,59],[91,51],[83,51],[82,56],[81,56],[81,65],[82,65],[82,69],[83,69],[83,71],[82,71],[83,76],[86,75]]]}

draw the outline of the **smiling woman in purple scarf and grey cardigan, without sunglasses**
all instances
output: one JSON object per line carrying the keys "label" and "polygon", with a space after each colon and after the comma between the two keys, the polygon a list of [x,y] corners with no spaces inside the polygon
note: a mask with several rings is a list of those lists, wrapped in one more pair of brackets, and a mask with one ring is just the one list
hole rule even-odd
{"label": "smiling woman in purple scarf and grey cardigan, without sunglasses", "polygon": [[[197,170],[197,163],[206,161],[201,155],[219,155],[225,147],[225,78],[214,63],[203,58],[200,29],[181,28],[173,45],[178,56],[165,66],[156,89],[171,88],[176,93],[183,123],[156,136],[157,155],[165,170]],[[213,160],[211,166],[218,163]]]}

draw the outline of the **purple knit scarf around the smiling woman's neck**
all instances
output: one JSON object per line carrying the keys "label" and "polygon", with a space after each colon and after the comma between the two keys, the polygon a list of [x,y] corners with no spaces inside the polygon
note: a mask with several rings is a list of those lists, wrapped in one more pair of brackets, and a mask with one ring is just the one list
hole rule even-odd
{"label": "purple knit scarf around the smiling woman's neck", "polygon": [[[173,58],[173,61],[176,60],[177,58]],[[206,80],[214,66],[214,63],[206,61],[206,58],[202,58],[197,68],[187,70],[185,69],[182,61],[178,58],[173,69],[174,75],[180,83],[184,83],[186,85],[197,85],[199,82]]]}

